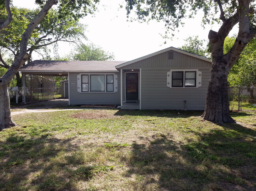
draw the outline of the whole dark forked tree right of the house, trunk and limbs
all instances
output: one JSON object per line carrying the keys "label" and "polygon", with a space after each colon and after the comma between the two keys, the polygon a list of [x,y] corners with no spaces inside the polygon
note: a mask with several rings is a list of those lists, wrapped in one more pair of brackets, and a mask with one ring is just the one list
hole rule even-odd
{"label": "whole dark forked tree right of the house, trunk and limbs", "polygon": [[[250,27],[249,0],[238,0],[237,12],[225,18],[221,1],[217,1],[221,10],[221,25],[218,32],[210,30],[208,38],[211,45],[211,78],[206,95],[206,106],[202,117],[215,123],[234,123],[229,114],[227,79],[230,69],[239,58],[248,42],[256,35],[256,29]],[[224,55],[223,45],[226,36],[234,25],[239,23],[239,32],[230,51]]]}

